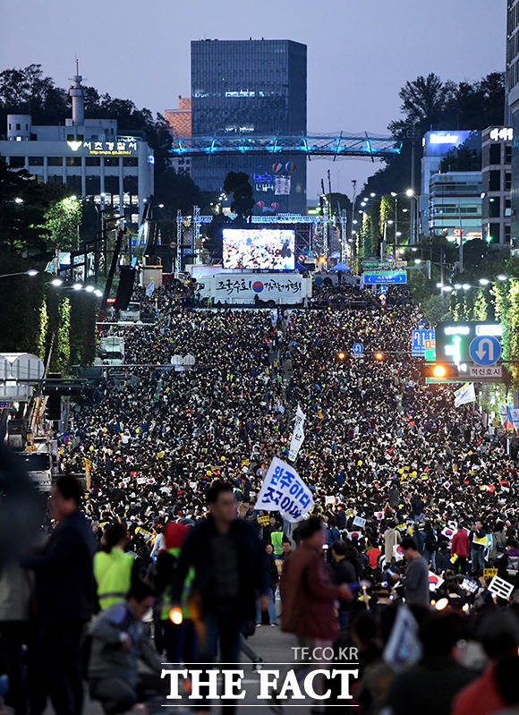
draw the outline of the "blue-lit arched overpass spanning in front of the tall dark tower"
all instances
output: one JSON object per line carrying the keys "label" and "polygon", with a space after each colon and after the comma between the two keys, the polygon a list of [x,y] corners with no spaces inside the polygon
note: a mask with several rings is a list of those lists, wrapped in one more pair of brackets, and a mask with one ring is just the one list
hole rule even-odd
{"label": "blue-lit arched overpass spanning in front of the tall dark tower", "polygon": [[402,142],[395,137],[369,135],[260,136],[257,134],[215,135],[174,139],[171,152],[178,157],[239,156],[240,154],[273,156],[301,154],[309,157],[388,158],[399,154]]}

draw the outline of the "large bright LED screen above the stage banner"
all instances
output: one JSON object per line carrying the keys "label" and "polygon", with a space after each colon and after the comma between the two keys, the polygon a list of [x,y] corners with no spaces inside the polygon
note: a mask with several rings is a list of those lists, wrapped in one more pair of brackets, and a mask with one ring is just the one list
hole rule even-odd
{"label": "large bright LED screen above the stage banner", "polygon": [[294,248],[294,231],[224,228],[224,268],[294,270]]}

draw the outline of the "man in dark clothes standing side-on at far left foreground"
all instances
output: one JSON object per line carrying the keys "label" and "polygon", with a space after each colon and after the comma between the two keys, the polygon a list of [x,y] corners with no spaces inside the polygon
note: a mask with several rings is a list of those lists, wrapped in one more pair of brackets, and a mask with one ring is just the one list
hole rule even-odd
{"label": "man in dark clothes standing side-on at far left foreground", "polygon": [[96,606],[96,541],[80,501],[77,481],[56,481],[50,509],[57,526],[42,553],[27,563],[36,575],[39,623],[40,697],[34,710],[45,709],[48,695],[56,715],[81,713],[81,634]]}

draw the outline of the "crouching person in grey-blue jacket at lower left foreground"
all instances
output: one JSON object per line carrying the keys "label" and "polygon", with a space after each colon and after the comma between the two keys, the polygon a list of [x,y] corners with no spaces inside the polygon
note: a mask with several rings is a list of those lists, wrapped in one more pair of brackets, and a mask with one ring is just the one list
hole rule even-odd
{"label": "crouching person in grey-blue jacket at lower left foreground", "polygon": [[[126,600],[99,613],[89,626],[90,696],[101,702],[107,715],[131,710],[137,702],[166,694],[157,651],[142,624],[154,600],[151,586],[137,581]],[[141,670],[140,662],[148,670]]]}

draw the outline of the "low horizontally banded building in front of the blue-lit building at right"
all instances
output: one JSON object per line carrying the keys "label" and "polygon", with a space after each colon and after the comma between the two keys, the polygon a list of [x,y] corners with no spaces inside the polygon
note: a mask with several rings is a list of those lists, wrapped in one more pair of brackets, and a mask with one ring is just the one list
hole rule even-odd
{"label": "low horizontally banded building in front of the blue-lit building at right", "polygon": [[481,171],[449,171],[430,177],[429,232],[447,241],[481,239]]}

